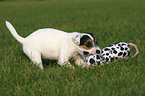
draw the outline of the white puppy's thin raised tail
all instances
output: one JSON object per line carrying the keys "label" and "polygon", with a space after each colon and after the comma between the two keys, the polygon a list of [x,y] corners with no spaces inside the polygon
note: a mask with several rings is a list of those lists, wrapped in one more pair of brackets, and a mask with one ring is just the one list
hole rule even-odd
{"label": "white puppy's thin raised tail", "polygon": [[6,21],[6,26],[7,28],[10,30],[11,34],[21,43],[23,44],[25,41],[25,38],[21,37],[20,35],[18,35],[18,33],[16,32],[15,28],[12,26],[12,24],[8,21]]}

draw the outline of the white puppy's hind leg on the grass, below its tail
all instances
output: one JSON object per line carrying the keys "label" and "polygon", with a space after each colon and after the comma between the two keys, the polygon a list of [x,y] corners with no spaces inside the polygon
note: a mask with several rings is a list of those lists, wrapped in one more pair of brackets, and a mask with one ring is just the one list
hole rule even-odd
{"label": "white puppy's hind leg on the grass, below its tail", "polygon": [[34,52],[34,51],[29,51],[29,52],[24,51],[24,52],[34,64],[38,65],[43,70],[41,54],[39,52]]}

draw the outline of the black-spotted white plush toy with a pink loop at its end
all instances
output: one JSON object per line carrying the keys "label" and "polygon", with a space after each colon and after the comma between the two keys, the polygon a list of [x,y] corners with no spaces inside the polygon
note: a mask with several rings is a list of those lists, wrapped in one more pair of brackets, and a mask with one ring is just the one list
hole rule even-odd
{"label": "black-spotted white plush toy with a pink loop at its end", "polygon": [[136,53],[131,57],[134,58],[139,53],[137,46],[133,43],[119,42],[105,47],[102,50],[97,49],[97,54],[88,53],[89,55],[86,57],[83,67],[104,65],[104,63],[108,64],[114,60],[116,61],[123,58],[129,59],[130,46],[134,46],[136,49]]}

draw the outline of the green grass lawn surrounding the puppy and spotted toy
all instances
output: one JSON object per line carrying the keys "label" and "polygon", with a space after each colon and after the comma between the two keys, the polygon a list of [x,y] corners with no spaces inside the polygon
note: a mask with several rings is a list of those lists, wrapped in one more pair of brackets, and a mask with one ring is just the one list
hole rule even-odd
{"label": "green grass lawn surrounding the puppy and spotted toy", "polygon": [[[1,96],[143,96],[145,93],[144,0],[50,0],[0,2]],[[39,28],[93,32],[101,48],[125,41],[137,57],[93,69],[32,65],[5,26],[26,37]],[[132,48],[132,54],[135,50]],[[50,53],[51,54],[51,53]]]}

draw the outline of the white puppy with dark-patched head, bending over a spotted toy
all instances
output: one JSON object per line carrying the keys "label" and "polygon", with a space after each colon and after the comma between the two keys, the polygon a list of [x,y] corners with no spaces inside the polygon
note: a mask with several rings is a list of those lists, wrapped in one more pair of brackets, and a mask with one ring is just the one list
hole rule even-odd
{"label": "white puppy with dark-patched head, bending over a spotted toy", "polygon": [[[18,35],[15,28],[6,21],[6,26],[13,37],[23,45],[24,53],[30,60],[43,69],[42,58],[58,60],[58,64],[73,67],[69,60],[76,58],[75,63],[80,64],[80,56],[83,58],[83,51],[94,53],[99,47],[96,39],[92,34],[87,33],[66,33],[57,29],[46,28],[39,29],[26,38]],[[94,53],[95,54],[95,53]]]}

